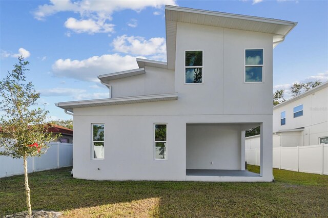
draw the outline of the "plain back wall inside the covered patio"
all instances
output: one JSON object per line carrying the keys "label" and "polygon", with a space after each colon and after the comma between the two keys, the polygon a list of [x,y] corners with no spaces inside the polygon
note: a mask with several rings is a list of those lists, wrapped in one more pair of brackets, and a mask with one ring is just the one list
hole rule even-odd
{"label": "plain back wall inside the covered patio", "polygon": [[187,169],[241,169],[239,125],[187,125],[186,138]]}

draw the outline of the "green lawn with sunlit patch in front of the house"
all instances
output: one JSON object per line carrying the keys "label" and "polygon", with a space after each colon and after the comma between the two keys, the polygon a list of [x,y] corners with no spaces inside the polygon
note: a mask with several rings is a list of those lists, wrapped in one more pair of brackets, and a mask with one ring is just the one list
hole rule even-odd
{"label": "green lawn with sunlit patch in front of the house", "polygon": [[[30,173],[32,209],[65,217],[328,217],[328,176],[274,169],[274,183],[116,182],[70,171]],[[24,176],[1,179],[0,217],[23,210]]]}

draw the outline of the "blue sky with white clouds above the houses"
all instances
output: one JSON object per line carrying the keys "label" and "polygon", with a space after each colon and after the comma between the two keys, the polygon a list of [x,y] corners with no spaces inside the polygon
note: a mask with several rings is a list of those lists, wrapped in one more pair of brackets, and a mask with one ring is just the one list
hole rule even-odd
{"label": "blue sky with white clouds above the houses", "polygon": [[0,79],[23,55],[49,120],[71,119],[54,104],[108,98],[98,75],[166,61],[165,5],[296,21],[273,52],[274,89],[328,80],[328,1],[302,0],[0,0]]}

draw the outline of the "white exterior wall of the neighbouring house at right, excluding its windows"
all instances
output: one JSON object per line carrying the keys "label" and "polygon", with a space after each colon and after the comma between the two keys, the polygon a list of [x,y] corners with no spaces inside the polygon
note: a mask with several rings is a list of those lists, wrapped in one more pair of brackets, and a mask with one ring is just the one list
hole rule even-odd
{"label": "white exterior wall of the neighbouring house at right, excluding its windows", "polygon": [[[320,137],[328,136],[328,88],[275,108],[273,130],[304,127],[300,146],[319,144]],[[293,118],[293,108],[303,104],[303,116]],[[286,112],[286,124],[280,125],[280,113]]]}

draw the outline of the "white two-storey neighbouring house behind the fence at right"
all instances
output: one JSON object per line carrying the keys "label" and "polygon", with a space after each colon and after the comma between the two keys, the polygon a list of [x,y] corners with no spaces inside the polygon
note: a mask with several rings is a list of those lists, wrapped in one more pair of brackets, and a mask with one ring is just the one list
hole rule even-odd
{"label": "white two-storey neighbouring house behind the fence at right", "polygon": [[[260,136],[246,138],[259,148]],[[328,82],[273,107],[273,147],[328,144]]]}

